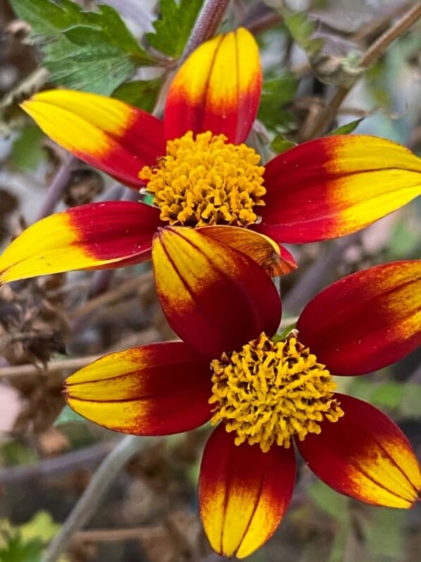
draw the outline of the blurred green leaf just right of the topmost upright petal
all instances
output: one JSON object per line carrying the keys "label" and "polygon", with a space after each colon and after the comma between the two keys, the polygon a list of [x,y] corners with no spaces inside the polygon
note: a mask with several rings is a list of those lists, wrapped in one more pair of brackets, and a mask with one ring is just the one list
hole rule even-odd
{"label": "blurred green leaf just right of the topmost upright petal", "polygon": [[285,106],[294,99],[297,86],[298,81],[292,73],[265,78],[258,111],[258,119],[265,127],[276,133],[294,128],[296,120]]}

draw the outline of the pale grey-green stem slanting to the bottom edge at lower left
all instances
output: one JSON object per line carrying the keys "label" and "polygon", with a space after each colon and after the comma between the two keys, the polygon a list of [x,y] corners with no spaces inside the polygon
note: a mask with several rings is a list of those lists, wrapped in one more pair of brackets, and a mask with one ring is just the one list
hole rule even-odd
{"label": "pale grey-green stem slanting to the bottom edge at lower left", "polygon": [[94,476],[84,490],[79,501],[65,520],[63,527],[53,541],[49,544],[48,549],[42,558],[42,562],[56,562],[63,552],[68,548],[73,534],[80,530],[87,521],[94,515],[96,508],[105,496],[109,487],[113,483],[113,479],[125,464],[133,458],[137,453],[142,451],[159,438],[147,439],[126,435],[119,444],[113,448],[111,453],[103,460],[96,470]]}

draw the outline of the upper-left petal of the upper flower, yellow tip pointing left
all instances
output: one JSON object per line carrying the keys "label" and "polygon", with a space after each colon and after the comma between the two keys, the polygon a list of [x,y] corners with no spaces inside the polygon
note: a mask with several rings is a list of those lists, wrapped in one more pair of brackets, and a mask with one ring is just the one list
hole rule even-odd
{"label": "upper-left petal of the upper flower, yellow tip pointing left", "polygon": [[139,171],[165,154],[161,121],[118,99],[49,90],[21,107],[59,145],[128,185],[143,185]]}

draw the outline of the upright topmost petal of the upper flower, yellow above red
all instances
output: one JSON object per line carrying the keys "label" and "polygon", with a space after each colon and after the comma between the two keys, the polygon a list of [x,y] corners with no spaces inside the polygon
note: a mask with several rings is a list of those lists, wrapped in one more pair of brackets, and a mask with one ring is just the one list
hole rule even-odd
{"label": "upright topmost petal of the upper flower, yellow above red", "polygon": [[244,28],[201,44],[172,81],[165,106],[165,136],[181,137],[188,130],[229,142],[246,140],[256,118],[262,73],[258,46]]}

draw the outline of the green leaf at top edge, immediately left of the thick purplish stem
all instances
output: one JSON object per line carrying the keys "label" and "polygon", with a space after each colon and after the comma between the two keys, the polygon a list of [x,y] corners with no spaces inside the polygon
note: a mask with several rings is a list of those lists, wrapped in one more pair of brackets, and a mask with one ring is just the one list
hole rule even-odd
{"label": "green leaf at top edge, immediately left of the thick purplish stem", "polygon": [[191,28],[199,15],[203,0],[161,0],[161,14],[153,22],[155,33],[148,33],[146,38],[161,53],[177,59],[189,39]]}

